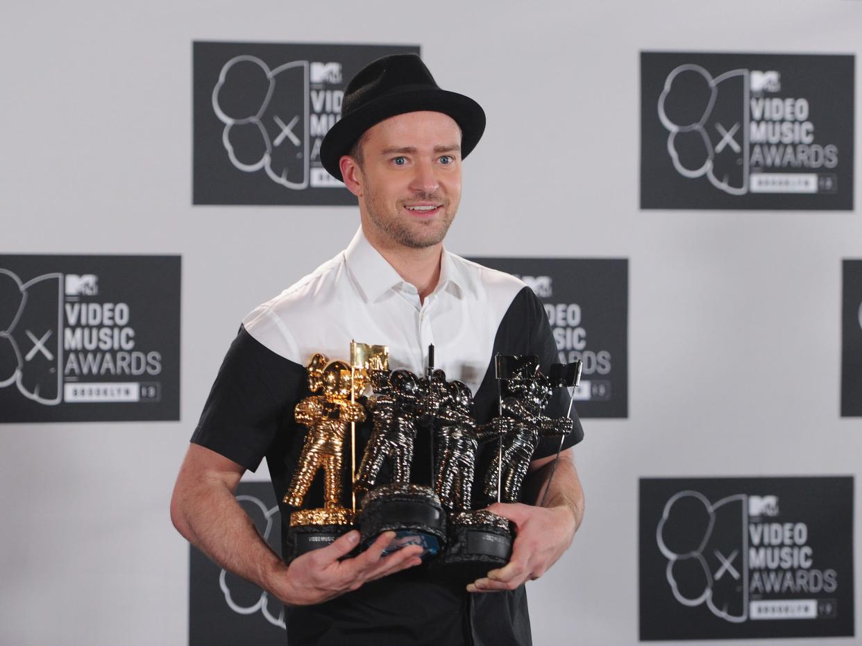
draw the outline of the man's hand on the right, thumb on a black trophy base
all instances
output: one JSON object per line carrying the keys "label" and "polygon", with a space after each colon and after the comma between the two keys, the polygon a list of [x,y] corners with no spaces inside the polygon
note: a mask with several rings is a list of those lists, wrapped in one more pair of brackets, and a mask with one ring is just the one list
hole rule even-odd
{"label": "man's hand on the right, thumb on a black trophy base", "polygon": [[525,581],[538,579],[557,562],[575,536],[576,519],[566,506],[495,502],[488,511],[515,523],[512,556],[503,568],[493,569],[468,585],[467,592],[514,590]]}

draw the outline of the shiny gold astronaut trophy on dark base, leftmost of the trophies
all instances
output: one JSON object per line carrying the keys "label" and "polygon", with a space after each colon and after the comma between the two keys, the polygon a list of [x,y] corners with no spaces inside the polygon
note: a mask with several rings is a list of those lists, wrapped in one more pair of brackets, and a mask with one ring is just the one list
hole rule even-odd
{"label": "shiny gold astronaut trophy on dark base, leftmost of the trophies", "polygon": [[297,404],[295,418],[305,425],[303,452],[293,472],[284,503],[299,507],[317,472],[323,470],[323,506],[290,514],[287,560],[325,547],[353,529],[353,511],[342,504],[342,468],[347,425],[365,419],[354,393],[365,389],[365,374],[343,361],[328,362],[317,353],[308,365],[312,394]]}

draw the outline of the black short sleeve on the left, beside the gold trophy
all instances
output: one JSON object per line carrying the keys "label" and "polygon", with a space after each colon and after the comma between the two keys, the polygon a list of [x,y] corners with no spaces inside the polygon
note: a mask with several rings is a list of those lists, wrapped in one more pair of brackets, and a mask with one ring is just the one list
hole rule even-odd
{"label": "black short sleeve on the left, beside the gold trophy", "polygon": [[302,398],[305,376],[303,366],[269,350],[240,327],[191,441],[256,470]]}

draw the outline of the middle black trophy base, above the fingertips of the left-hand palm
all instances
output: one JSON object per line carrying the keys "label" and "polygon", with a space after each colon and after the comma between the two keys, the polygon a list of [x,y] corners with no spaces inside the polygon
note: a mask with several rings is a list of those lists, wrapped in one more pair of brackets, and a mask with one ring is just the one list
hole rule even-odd
{"label": "middle black trophy base, above the fingertips of the left-hand palm", "polygon": [[372,489],[357,519],[361,544],[367,548],[384,531],[395,538],[384,556],[408,545],[422,545],[422,559],[439,553],[446,544],[446,512],[434,490],[413,484],[388,484]]}

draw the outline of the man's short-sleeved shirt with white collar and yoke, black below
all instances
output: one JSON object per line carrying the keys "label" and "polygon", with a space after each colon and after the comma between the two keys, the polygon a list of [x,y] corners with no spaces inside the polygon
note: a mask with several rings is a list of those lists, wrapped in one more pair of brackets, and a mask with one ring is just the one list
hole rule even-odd
{"label": "man's short-sleeved shirt with white collar and yoke, black below", "polygon": [[[440,281],[420,302],[415,287],[403,281],[360,228],[344,252],[242,321],[191,441],[246,469],[257,469],[266,457],[281,500],[303,447],[304,427],[294,421],[293,409],[310,394],[305,366],[315,352],[349,363],[351,340],[388,346],[390,369],[417,375],[424,374],[433,344],[434,368],[472,390],[479,424],[497,412],[497,353],[536,355],[546,374],[557,361],[544,308],[522,281],[444,249]],[[559,389],[546,414],[563,416],[568,404],[568,394]],[[584,437],[573,411],[572,418],[575,429],[565,447]],[[358,456],[370,430],[368,423],[357,428]],[[559,439],[542,440],[534,458],[558,448]],[[414,464],[427,462],[417,447]],[[481,488],[489,462],[490,450],[481,451],[474,490]],[[430,478],[429,470],[423,475],[421,468],[413,469],[411,480]],[[384,477],[381,473],[381,481]],[[305,506],[321,503],[322,479],[317,478]],[[279,505],[284,543],[293,510]],[[291,644],[379,644],[382,637],[396,637],[398,643],[529,643],[523,587],[469,595],[462,586],[433,581],[423,566],[318,606],[289,608],[287,624]]]}

